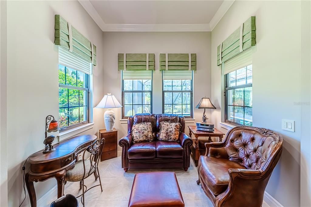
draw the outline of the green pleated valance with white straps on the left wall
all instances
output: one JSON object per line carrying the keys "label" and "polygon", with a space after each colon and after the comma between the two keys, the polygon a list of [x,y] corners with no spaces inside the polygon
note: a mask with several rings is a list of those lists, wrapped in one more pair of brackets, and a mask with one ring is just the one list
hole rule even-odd
{"label": "green pleated valance with white straps on the left wall", "polygon": [[54,43],[96,66],[96,46],[58,14],[55,15]]}

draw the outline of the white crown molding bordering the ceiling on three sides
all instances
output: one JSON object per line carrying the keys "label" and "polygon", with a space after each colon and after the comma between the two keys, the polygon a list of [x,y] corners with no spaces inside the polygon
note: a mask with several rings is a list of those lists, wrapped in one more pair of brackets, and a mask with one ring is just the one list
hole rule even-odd
{"label": "white crown molding bordering the ceiling on three sides", "polygon": [[210,32],[233,4],[234,0],[222,2],[209,24],[105,24],[89,0],[79,3],[104,32]]}

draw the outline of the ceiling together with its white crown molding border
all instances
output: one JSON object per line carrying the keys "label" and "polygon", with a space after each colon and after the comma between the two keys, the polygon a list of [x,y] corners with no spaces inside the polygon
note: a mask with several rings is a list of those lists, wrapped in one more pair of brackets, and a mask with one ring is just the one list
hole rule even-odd
{"label": "ceiling together with its white crown molding border", "polygon": [[79,1],[103,31],[211,31],[234,1]]}

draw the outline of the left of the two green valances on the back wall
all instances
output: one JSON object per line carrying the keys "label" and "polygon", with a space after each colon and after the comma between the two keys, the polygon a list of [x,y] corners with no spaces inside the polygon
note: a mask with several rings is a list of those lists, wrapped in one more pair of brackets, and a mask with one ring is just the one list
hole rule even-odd
{"label": "left of the two green valances on the back wall", "polygon": [[[148,60],[147,60],[148,55]],[[126,64],[124,67],[124,57]],[[148,61],[148,67],[147,67]],[[118,53],[118,70],[155,70],[154,53]]]}

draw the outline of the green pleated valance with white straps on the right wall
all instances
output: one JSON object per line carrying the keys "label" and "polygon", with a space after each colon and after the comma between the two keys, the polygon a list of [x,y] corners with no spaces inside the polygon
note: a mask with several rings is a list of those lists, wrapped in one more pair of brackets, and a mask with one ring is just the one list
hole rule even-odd
{"label": "green pleated valance with white straps on the right wall", "polygon": [[217,66],[256,45],[255,16],[251,16],[217,47]]}

